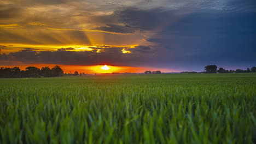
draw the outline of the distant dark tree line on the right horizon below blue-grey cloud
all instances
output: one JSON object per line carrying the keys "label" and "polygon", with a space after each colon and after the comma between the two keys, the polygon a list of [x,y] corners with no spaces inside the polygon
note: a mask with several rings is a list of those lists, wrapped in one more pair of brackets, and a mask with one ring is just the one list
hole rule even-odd
{"label": "distant dark tree line on the right horizon below blue-grey cloud", "polygon": [[[183,71],[182,74],[196,74],[196,71]],[[217,65],[207,65],[205,67],[205,71],[202,71],[200,73],[206,73],[206,74],[213,74],[213,73],[256,73],[256,67],[247,68],[246,70],[243,69],[236,69],[236,70],[227,70],[224,68],[219,68]]]}

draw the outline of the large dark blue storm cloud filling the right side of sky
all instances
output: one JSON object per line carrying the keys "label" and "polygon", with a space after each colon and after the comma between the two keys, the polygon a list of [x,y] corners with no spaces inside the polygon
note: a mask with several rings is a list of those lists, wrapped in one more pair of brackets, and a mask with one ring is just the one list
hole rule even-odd
{"label": "large dark blue storm cloud filling the right side of sky", "polygon": [[229,9],[200,9],[189,14],[161,8],[127,8],[118,13],[130,27],[156,31],[146,40],[159,51],[167,51],[160,54],[162,65],[251,65],[256,63],[254,5],[252,1],[230,1]]}

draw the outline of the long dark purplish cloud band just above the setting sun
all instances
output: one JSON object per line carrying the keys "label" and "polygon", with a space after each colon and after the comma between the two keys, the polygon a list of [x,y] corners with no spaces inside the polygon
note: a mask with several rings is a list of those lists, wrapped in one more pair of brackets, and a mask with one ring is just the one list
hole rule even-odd
{"label": "long dark purplish cloud band just above the setting sun", "polygon": [[[137,46],[129,49],[132,53],[123,53],[122,50],[124,48],[126,47],[101,47],[100,53],[96,51],[66,51],[69,48],[62,48],[57,51],[20,50],[19,52],[10,52],[8,55],[0,55],[0,60],[67,65],[97,65],[107,63],[112,65],[145,66],[143,63],[147,62],[147,57],[150,57],[153,53],[147,52],[151,49],[147,46]],[[98,50],[99,48],[94,47],[94,49]]]}

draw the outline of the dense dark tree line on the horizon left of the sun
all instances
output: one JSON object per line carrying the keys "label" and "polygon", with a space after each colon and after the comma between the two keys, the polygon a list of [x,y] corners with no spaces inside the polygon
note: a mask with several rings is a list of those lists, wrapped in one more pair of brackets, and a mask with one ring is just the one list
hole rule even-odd
{"label": "dense dark tree line on the horizon left of the sun", "polygon": [[56,65],[53,68],[43,67],[27,67],[25,70],[20,70],[19,67],[0,68],[0,78],[18,78],[18,77],[54,77],[63,76],[63,70]]}

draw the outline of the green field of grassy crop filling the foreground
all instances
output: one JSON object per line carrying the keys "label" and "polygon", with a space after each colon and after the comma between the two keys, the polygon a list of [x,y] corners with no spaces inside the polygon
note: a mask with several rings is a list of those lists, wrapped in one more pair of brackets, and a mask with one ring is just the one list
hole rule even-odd
{"label": "green field of grassy crop filling the foreground", "polygon": [[0,79],[0,143],[255,143],[256,74]]}

